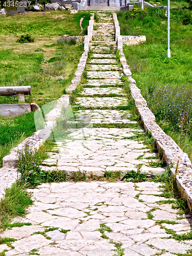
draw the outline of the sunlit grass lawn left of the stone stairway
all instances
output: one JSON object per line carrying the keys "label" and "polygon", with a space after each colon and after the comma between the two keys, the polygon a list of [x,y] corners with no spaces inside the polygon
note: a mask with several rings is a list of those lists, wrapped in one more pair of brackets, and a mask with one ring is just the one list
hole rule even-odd
{"label": "sunlit grass lawn left of the stone stairway", "polygon": [[[57,44],[63,34],[86,34],[90,15],[79,11],[30,12],[27,15],[0,16],[0,86],[31,86],[25,102],[42,106],[58,99],[70,85],[83,52],[83,44]],[[34,42],[20,44],[22,34]],[[18,103],[18,96],[0,96],[0,104]],[[33,113],[0,117],[0,165],[12,146],[35,132]]]}

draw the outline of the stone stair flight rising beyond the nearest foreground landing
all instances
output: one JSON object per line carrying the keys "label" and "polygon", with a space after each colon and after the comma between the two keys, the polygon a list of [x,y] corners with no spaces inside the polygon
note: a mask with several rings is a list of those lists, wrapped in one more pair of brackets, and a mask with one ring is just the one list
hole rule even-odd
{"label": "stone stair flight rising beyond the nearest foreground landing", "polygon": [[[129,111],[129,101],[121,81],[122,68],[116,57],[113,18],[110,12],[97,12],[89,58],[84,71],[86,80],[73,106],[66,136],[55,139],[59,153],[50,153],[42,166],[45,170],[62,169],[88,176],[103,176],[108,171],[126,172],[141,167],[142,173],[162,173],[164,167],[148,166],[148,159],[157,156],[133,139],[138,129]],[[64,114],[65,116],[65,114]],[[82,127],[82,129],[80,128]],[[132,138],[132,139],[131,139]],[[56,165],[56,166],[53,166]]]}

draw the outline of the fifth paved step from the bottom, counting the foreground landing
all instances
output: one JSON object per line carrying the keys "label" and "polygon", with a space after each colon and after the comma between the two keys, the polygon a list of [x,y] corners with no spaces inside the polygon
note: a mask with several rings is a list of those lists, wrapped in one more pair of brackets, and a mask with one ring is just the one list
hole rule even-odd
{"label": "fifth paved step from the bottom, counting the foreground landing", "polygon": [[105,87],[105,88],[84,88],[83,91],[80,93],[81,96],[83,95],[94,95],[94,94],[124,94],[122,88],[114,88],[114,87]]}

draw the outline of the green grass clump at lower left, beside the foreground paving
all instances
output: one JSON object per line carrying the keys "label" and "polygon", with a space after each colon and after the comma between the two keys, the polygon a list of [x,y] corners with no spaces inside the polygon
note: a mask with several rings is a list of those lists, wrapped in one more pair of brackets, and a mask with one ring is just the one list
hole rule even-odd
{"label": "green grass clump at lower left, beside the foreground paving", "polygon": [[33,201],[27,194],[25,187],[13,183],[10,188],[6,188],[5,197],[0,201],[0,230],[19,226],[18,223],[10,224],[10,221],[14,217],[25,216],[26,208],[32,203]]}

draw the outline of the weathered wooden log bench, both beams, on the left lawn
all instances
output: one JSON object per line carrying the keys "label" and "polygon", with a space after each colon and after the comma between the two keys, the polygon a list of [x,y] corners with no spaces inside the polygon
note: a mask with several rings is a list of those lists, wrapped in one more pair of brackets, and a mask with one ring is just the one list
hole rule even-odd
{"label": "weathered wooden log bench, both beams, on the left lawn", "polygon": [[[30,86],[0,87],[1,96],[18,95],[18,101],[25,101],[25,95],[31,95]],[[19,116],[40,110],[36,103],[0,104],[0,116]]]}

